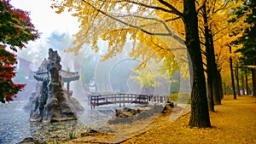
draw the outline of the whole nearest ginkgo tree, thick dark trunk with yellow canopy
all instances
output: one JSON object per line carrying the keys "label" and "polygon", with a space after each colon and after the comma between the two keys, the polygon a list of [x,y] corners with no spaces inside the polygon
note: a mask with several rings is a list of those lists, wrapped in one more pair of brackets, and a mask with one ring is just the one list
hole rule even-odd
{"label": "whole nearest ginkgo tree, thick dark trunk with yellow canopy", "polygon": [[[176,43],[176,49],[186,46],[188,52],[179,52],[182,53],[180,55],[189,54],[192,64],[190,72],[193,88],[189,125],[203,128],[211,127],[211,123],[198,34],[197,11],[201,9],[201,2],[197,3],[199,4],[195,5],[194,0],[67,0],[53,1],[52,7],[57,9],[57,13],[67,9],[79,17],[81,25],[80,31],[75,35],[76,46],[67,51],[78,53],[84,43],[91,43],[92,49],[98,51],[97,42],[102,38],[108,41],[108,54],[103,57],[106,60],[118,55],[124,48],[126,39],[131,38],[134,43],[147,45],[162,58],[177,60],[178,56],[166,55],[168,51],[172,51],[171,43]],[[172,28],[175,20],[179,22],[177,26],[181,27],[181,31],[175,32]],[[178,33],[183,34],[183,37],[178,37]],[[136,44],[134,45],[136,51]],[[144,60],[147,62],[148,58]],[[141,66],[143,65],[144,63]]]}

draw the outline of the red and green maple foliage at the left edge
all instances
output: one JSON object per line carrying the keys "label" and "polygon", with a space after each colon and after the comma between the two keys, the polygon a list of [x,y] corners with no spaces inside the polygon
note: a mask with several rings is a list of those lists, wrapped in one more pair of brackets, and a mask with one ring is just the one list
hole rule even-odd
{"label": "red and green maple foliage at the left edge", "polygon": [[11,101],[25,84],[14,84],[15,54],[7,50],[17,52],[25,47],[28,41],[35,40],[39,34],[31,23],[29,14],[21,9],[15,9],[9,1],[0,0],[0,101]]}

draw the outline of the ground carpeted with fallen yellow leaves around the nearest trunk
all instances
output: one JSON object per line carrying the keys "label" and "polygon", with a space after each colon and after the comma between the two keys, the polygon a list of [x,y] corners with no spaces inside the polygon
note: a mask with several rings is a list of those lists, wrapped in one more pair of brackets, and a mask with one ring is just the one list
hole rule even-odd
{"label": "ground carpeted with fallen yellow leaves around the nearest trunk", "polygon": [[[160,116],[152,123],[159,126],[131,136],[123,143],[256,143],[256,98],[238,96],[237,100],[233,100],[231,95],[227,95],[224,96],[222,105],[216,106],[215,110],[216,112],[210,112],[212,128],[189,128],[190,114],[172,122],[166,120],[170,116]],[[119,125],[123,131],[131,129],[125,129],[125,126],[127,125]],[[88,138],[93,140],[93,137]],[[102,135],[102,138],[111,140],[116,137]],[[77,143],[85,143],[83,139],[80,140]]]}

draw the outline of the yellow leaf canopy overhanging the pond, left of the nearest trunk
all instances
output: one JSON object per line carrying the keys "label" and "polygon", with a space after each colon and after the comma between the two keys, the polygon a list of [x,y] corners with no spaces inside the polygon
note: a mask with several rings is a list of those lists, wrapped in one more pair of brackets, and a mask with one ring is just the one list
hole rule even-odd
{"label": "yellow leaf canopy overhanging the pond, left of the nearest trunk", "polygon": [[[181,2],[168,1],[178,10],[183,10]],[[130,40],[133,43],[130,55],[134,59],[143,59],[139,66],[144,67],[150,59],[156,62],[164,60],[169,72],[183,67],[183,77],[188,77],[188,56],[183,37],[179,37],[184,31],[183,25],[175,23],[176,27],[173,27],[171,22],[173,18],[182,21],[173,17],[172,10],[159,1],[66,0],[53,1],[52,8],[57,9],[57,13],[65,9],[73,12],[81,23],[73,42],[75,47],[66,52],[78,53],[84,44],[91,44],[91,49],[97,52],[97,43],[104,40],[108,41],[108,53],[102,60],[107,60],[121,53],[126,41]],[[178,66],[173,66],[173,63]]]}

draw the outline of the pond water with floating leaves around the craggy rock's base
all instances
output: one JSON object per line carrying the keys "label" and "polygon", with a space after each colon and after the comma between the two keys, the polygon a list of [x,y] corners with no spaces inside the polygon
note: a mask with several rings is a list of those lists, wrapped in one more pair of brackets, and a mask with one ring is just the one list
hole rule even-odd
{"label": "pond water with floating leaves around the craggy rock's base", "polygon": [[119,105],[90,108],[84,102],[82,106],[85,110],[79,113],[77,121],[38,124],[29,122],[30,113],[22,109],[26,102],[0,103],[0,144],[15,144],[29,136],[37,137],[41,141],[67,140],[70,132],[79,135],[86,127],[96,129],[104,126],[113,116],[113,109],[119,108]]}

